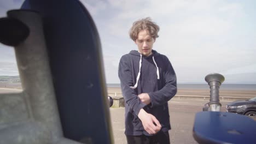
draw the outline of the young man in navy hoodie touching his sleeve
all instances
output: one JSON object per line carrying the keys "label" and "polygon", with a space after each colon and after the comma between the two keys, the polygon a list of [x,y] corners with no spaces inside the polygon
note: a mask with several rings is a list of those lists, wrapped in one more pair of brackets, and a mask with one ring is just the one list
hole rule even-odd
{"label": "young man in navy hoodie touching his sleeve", "polygon": [[127,143],[170,143],[167,102],[177,92],[176,75],[168,58],[152,50],[158,32],[149,17],[134,22],[130,38],[138,50],[120,59]]}

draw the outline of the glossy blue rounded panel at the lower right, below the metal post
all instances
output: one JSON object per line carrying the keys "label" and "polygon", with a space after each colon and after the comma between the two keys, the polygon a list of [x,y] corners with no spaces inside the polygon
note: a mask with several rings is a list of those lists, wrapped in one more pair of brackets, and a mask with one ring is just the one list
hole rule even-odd
{"label": "glossy blue rounded panel at the lower right, below the metal post", "polygon": [[235,113],[198,112],[193,136],[199,143],[256,143],[256,122]]}

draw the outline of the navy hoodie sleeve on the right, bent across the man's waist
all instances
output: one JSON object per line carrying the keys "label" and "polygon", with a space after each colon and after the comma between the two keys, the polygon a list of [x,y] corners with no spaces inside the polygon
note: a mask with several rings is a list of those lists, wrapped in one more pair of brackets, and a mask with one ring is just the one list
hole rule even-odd
{"label": "navy hoodie sleeve on the right, bent across the man's waist", "polygon": [[165,77],[165,86],[159,91],[148,93],[151,100],[151,107],[165,104],[177,93],[176,74],[172,68],[171,62],[167,57],[165,59],[166,69],[163,76]]}

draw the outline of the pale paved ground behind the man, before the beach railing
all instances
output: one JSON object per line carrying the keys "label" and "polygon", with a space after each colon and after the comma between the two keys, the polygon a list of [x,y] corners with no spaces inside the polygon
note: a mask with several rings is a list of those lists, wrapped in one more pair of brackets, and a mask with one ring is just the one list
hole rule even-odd
{"label": "pale paved ground behind the man, before the beach railing", "polygon": [[[202,107],[208,100],[172,99],[169,101],[170,121],[172,130],[169,131],[172,144],[197,143],[193,138],[193,125],[195,113],[202,111]],[[220,101],[222,111],[228,101]],[[115,144],[126,143],[124,135],[124,108],[110,108],[113,136]]]}

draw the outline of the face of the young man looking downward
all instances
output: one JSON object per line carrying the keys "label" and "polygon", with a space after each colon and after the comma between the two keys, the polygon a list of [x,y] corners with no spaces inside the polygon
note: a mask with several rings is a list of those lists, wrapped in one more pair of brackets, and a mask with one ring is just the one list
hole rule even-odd
{"label": "face of the young man looking downward", "polygon": [[139,32],[138,38],[135,40],[135,44],[138,46],[138,51],[143,56],[150,56],[152,54],[154,43],[154,38],[152,38],[146,30]]}

